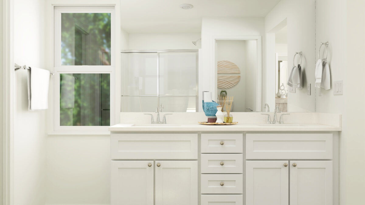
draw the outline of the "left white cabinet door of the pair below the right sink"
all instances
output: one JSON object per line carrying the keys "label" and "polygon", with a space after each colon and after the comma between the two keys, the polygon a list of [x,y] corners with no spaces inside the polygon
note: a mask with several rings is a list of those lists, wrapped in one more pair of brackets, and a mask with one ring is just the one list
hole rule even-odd
{"label": "left white cabinet door of the pair below the right sink", "polygon": [[246,161],[246,205],[288,205],[288,194],[288,161]]}

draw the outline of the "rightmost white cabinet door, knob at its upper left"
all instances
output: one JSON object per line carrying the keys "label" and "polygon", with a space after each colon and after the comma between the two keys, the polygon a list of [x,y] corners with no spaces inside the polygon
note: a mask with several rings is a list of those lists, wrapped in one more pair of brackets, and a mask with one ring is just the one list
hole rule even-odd
{"label": "rightmost white cabinet door, knob at its upper left", "polygon": [[290,204],[332,205],[332,161],[290,161]]}

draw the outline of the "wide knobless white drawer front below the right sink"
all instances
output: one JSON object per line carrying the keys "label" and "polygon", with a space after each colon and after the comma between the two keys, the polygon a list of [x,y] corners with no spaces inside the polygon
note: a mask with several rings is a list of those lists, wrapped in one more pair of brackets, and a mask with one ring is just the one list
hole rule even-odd
{"label": "wide knobless white drawer front below the right sink", "polygon": [[332,134],[246,134],[246,159],[332,159]]}

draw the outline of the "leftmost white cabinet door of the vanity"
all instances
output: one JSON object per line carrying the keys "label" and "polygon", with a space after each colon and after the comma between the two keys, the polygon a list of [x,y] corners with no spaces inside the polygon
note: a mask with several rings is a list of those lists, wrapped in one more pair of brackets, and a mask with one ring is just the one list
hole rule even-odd
{"label": "leftmost white cabinet door of the vanity", "polygon": [[111,205],[153,205],[153,161],[111,162]]}

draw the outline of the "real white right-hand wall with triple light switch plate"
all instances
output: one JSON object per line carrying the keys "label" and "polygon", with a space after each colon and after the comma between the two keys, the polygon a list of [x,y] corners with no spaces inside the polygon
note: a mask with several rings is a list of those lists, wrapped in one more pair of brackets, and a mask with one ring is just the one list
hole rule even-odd
{"label": "real white right-hand wall with triple light switch plate", "polygon": [[[329,42],[331,89],[316,96],[316,112],[342,114],[340,134],[341,205],[364,204],[365,190],[365,2],[358,0],[316,1],[316,52],[320,42]],[[343,80],[343,95],[333,95],[333,82]]]}

